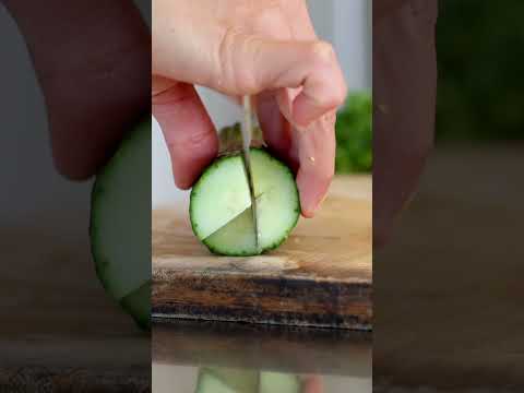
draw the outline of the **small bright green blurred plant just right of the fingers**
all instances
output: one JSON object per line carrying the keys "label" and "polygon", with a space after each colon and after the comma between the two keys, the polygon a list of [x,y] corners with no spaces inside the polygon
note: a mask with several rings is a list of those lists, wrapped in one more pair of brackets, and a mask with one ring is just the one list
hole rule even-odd
{"label": "small bright green blurred plant just right of the fingers", "polygon": [[372,168],[372,99],[353,93],[336,120],[335,172],[369,172]]}

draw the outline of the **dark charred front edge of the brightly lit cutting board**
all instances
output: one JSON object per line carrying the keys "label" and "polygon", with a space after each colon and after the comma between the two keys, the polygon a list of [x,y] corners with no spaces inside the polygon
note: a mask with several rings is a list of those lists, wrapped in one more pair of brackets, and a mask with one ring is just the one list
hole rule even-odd
{"label": "dark charred front edge of the brightly lit cutting board", "polygon": [[371,282],[153,270],[152,315],[372,330]]}

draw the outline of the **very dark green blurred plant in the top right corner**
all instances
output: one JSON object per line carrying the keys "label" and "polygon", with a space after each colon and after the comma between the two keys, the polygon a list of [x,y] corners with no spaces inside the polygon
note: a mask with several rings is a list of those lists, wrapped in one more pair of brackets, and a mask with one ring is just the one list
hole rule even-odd
{"label": "very dark green blurred plant in the top right corner", "polygon": [[441,0],[438,140],[524,139],[524,1]]}

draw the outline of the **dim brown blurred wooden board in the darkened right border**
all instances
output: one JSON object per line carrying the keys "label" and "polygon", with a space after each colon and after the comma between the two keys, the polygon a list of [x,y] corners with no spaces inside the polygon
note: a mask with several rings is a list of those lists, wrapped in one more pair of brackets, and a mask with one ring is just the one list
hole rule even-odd
{"label": "dim brown blurred wooden board in the darkened right border", "polygon": [[523,167],[522,143],[430,157],[374,253],[377,391],[524,392]]}

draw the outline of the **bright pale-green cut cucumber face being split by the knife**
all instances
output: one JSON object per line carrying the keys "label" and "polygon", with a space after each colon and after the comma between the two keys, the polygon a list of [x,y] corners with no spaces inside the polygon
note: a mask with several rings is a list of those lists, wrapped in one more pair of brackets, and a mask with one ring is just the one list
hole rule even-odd
{"label": "bright pale-green cut cucumber face being split by the knife", "polygon": [[293,172],[264,148],[250,152],[259,247],[241,153],[216,159],[191,190],[193,233],[214,253],[246,257],[269,251],[297,225],[300,201]]}

